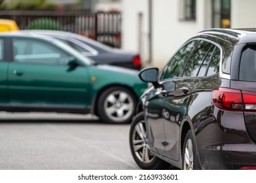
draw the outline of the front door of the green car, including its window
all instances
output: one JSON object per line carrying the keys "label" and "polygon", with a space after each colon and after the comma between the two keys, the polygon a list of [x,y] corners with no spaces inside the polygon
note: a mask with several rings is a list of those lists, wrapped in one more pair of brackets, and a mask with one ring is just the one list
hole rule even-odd
{"label": "front door of the green car, including its window", "polygon": [[86,67],[71,67],[70,55],[42,39],[13,39],[9,96],[14,107],[77,108],[88,105]]}

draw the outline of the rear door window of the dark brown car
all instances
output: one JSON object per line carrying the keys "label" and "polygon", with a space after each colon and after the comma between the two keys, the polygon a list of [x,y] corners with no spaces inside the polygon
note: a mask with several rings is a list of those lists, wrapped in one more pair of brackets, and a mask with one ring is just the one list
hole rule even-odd
{"label": "rear door window of the dark brown car", "polygon": [[210,42],[200,41],[187,62],[183,76],[204,76],[213,47]]}

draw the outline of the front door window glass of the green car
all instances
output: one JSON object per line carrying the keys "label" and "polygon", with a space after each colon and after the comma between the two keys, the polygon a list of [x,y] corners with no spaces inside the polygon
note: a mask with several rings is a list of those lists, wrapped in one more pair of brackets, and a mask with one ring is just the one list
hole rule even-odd
{"label": "front door window glass of the green car", "polygon": [[54,46],[36,40],[14,39],[13,50],[15,62],[65,65],[69,58]]}

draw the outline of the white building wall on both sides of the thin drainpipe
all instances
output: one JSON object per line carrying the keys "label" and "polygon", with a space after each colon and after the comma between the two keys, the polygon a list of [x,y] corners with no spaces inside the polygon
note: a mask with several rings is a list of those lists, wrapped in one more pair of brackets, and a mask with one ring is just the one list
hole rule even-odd
{"label": "white building wall on both sides of the thin drainpipe", "polygon": [[[153,60],[161,68],[189,37],[210,27],[211,0],[197,0],[196,21],[181,20],[180,0],[153,0]],[[142,52],[149,58],[148,0],[122,0],[122,48]],[[206,7],[207,6],[207,7]],[[141,45],[139,44],[139,12],[143,13]],[[145,65],[147,66],[147,65]]]}

